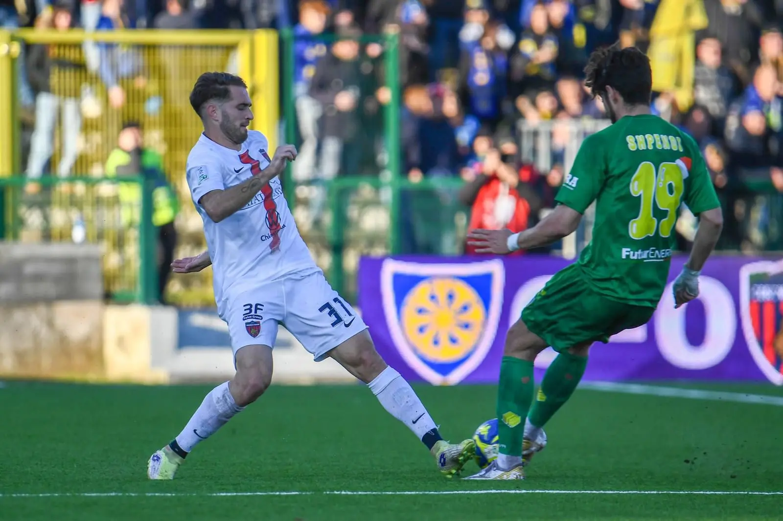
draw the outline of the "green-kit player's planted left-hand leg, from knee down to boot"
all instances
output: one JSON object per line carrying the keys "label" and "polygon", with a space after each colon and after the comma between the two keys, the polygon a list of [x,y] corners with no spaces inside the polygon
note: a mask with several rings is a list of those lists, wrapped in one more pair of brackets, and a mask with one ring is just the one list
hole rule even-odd
{"label": "green-kit player's planted left-hand leg, from knee down to boot", "polygon": [[521,318],[511,326],[500,362],[497,389],[499,454],[488,467],[469,480],[522,480],[522,440],[525,419],[533,399],[533,361],[547,343],[531,332]]}

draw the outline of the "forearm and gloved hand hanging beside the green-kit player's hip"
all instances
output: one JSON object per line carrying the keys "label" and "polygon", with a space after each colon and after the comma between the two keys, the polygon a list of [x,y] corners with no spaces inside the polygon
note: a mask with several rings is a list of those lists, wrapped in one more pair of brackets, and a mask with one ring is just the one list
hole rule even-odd
{"label": "forearm and gloved hand hanging beside the green-kit player's hip", "polygon": [[698,275],[720,238],[723,229],[723,211],[720,208],[703,211],[699,215],[698,229],[693,241],[691,256],[682,273],[674,281],[674,307],[680,307],[698,296]]}

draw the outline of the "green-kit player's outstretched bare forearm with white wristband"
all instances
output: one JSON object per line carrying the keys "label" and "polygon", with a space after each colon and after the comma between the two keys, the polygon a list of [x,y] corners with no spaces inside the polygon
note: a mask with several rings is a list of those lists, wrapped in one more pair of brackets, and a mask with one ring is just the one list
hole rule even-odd
{"label": "green-kit player's outstretched bare forearm with white wristband", "polygon": [[531,250],[554,243],[576,231],[582,214],[559,204],[538,225],[512,234],[511,230],[473,230],[467,234],[467,243],[476,246],[476,253],[505,255],[516,250]]}

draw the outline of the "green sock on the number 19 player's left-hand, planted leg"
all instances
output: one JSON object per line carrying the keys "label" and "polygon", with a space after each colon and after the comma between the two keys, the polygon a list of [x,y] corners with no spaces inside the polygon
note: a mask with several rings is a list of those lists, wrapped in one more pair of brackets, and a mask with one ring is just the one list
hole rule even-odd
{"label": "green sock on the number 19 player's left-hand, planted leg", "polygon": [[503,357],[497,387],[497,433],[503,455],[522,455],[525,418],[535,386],[532,361]]}

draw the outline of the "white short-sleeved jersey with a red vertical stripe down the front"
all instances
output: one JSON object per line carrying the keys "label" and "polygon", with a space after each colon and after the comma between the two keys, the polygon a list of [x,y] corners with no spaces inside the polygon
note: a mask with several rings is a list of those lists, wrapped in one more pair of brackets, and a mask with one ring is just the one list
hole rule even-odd
{"label": "white short-sleeved jersey with a red vertical stripe down the front", "polygon": [[214,271],[212,286],[221,316],[234,294],[297,271],[318,270],[299,235],[279,178],[273,178],[244,208],[218,223],[199,203],[207,192],[239,185],[269,167],[268,149],[269,141],[258,131],[247,132],[239,151],[202,134],[188,155],[188,186],[204,221]]}

